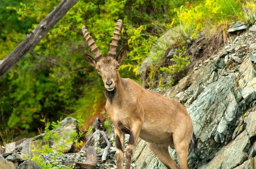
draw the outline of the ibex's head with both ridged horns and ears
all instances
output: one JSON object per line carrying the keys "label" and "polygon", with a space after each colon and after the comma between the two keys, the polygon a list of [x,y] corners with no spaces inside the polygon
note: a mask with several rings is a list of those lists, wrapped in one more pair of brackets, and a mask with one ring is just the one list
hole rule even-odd
{"label": "ibex's head with both ridged horns and ears", "polygon": [[122,48],[118,56],[115,58],[117,43],[119,40],[118,38],[121,33],[121,30],[122,30],[122,20],[118,20],[115,31],[113,32],[113,37],[111,38],[112,42],[110,44],[110,50],[108,52],[108,56],[104,57],[99,51],[98,46],[95,45],[95,42],[93,41],[92,37],[88,33],[85,26],[82,26],[82,32],[84,34],[84,38],[86,39],[86,42],[90,46],[91,51],[95,56],[95,59],[93,59],[93,57],[86,54],[84,58],[90,65],[96,68],[99,75],[102,76],[102,80],[105,84],[105,88],[108,91],[112,91],[115,89],[116,76],[119,69],[119,65],[126,54],[126,49]]}

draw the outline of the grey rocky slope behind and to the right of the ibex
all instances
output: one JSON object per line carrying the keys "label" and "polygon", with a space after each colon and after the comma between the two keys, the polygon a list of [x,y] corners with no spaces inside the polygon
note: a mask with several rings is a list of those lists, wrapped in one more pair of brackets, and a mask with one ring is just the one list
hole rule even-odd
{"label": "grey rocky slope behind and to the right of the ibex", "polygon": [[[192,117],[198,149],[189,155],[190,169],[256,167],[256,35],[247,31],[217,55],[198,63],[169,90]],[[177,162],[175,150],[169,149]],[[140,140],[137,169],[166,169]]]}

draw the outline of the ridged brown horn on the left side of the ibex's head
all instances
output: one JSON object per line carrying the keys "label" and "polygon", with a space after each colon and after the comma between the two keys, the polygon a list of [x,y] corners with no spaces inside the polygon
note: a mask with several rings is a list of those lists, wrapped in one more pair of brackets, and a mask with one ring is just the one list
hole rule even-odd
{"label": "ridged brown horn on the left side of the ibex's head", "polygon": [[90,33],[87,31],[85,26],[82,26],[82,32],[88,46],[91,48],[91,52],[94,54],[96,61],[98,61],[100,58],[102,58],[102,53],[99,51],[98,46],[95,45],[93,37],[90,36]]}

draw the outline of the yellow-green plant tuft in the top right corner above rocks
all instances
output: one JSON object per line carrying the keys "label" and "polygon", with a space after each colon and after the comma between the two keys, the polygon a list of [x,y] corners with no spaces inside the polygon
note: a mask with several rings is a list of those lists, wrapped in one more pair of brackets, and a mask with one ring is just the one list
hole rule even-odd
{"label": "yellow-green plant tuft in the top right corner above rocks", "polygon": [[248,23],[255,24],[256,22],[256,1],[247,0],[243,4],[243,14]]}

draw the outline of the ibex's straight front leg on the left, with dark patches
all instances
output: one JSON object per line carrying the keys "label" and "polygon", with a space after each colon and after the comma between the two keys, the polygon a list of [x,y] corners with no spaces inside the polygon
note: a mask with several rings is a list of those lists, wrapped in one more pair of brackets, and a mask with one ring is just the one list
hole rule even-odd
{"label": "ibex's straight front leg on the left, with dark patches", "polygon": [[125,134],[114,127],[116,138],[116,161],[117,169],[123,169]]}

